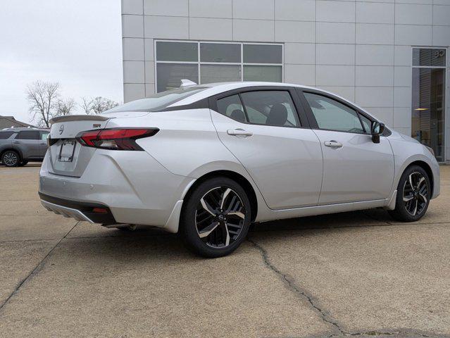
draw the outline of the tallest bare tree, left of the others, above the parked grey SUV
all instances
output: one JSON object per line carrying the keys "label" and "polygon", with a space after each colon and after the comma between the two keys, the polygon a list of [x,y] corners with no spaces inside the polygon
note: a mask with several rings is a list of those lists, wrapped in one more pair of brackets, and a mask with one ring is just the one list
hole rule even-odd
{"label": "tallest bare tree, left of the others, above the parked grey SUV", "polygon": [[50,127],[49,121],[56,116],[55,104],[59,94],[58,82],[36,81],[27,86],[30,113],[40,127]]}

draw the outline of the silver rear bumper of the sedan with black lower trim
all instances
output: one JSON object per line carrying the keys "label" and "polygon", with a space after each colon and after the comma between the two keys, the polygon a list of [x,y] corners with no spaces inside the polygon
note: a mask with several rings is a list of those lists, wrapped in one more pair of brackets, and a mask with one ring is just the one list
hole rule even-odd
{"label": "silver rear bumper of the sedan with black lower trim", "polygon": [[[39,195],[49,211],[102,224],[138,224],[177,232],[180,201],[194,182],[174,175],[144,151],[98,149],[82,177],[51,173],[44,159]],[[103,208],[107,213],[94,213]]]}

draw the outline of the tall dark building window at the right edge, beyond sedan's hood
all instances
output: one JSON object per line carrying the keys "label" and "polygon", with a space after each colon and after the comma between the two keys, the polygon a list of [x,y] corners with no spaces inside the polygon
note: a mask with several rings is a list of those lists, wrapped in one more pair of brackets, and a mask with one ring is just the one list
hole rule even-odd
{"label": "tall dark building window at the right edge, beyond sedan's hood", "polygon": [[444,161],[446,49],[413,48],[411,136]]}

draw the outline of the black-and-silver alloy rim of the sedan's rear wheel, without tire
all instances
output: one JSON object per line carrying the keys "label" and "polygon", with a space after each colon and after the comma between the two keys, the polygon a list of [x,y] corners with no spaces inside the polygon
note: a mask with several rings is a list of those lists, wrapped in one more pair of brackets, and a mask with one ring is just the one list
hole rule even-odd
{"label": "black-and-silver alloy rim of the sedan's rear wheel, without tire", "polygon": [[246,211],[239,195],[228,187],[216,187],[201,197],[195,225],[201,240],[213,248],[225,248],[242,232]]}

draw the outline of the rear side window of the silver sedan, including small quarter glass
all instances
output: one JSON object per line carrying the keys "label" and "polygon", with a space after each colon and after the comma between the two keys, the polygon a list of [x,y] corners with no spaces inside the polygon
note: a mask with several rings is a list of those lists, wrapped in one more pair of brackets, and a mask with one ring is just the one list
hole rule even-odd
{"label": "rear side window of the silver sedan, including small quarter glass", "polygon": [[219,113],[242,123],[297,127],[299,118],[291,95],[283,90],[244,92],[217,101]]}

